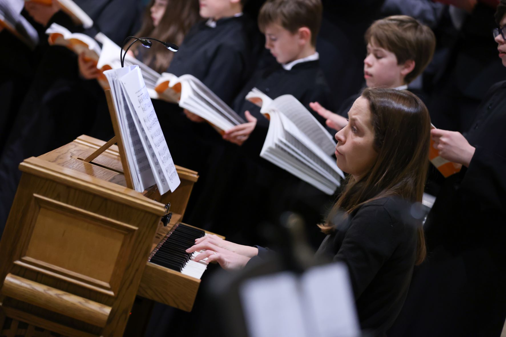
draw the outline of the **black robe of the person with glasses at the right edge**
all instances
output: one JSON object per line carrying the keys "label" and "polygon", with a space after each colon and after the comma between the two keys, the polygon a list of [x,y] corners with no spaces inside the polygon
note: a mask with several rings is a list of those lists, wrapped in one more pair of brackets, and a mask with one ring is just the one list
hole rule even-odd
{"label": "black robe of the person with glasses at the right edge", "polygon": [[466,138],[469,168],[448,178],[425,224],[415,268],[389,336],[499,336],[506,318],[506,81],[487,92]]}

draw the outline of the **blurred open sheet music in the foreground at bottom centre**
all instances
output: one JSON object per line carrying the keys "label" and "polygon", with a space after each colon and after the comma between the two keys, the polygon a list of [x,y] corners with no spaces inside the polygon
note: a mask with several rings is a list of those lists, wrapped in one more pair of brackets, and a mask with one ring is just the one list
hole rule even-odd
{"label": "blurred open sheet music in the foreground at bottom centre", "polygon": [[252,278],[239,292],[249,337],[362,335],[343,263]]}

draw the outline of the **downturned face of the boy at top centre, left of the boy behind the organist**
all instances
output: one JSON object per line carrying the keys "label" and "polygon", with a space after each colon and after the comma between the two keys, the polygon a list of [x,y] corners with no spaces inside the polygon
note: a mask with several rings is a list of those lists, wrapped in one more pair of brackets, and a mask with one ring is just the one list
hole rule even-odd
{"label": "downturned face of the boy at top centre, left of the boy behind the organist", "polygon": [[303,46],[300,44],[299,34],[292,34],[277,23],[270,23],[265,27],[265,47],[280,64],[286,64],[298,59]]}

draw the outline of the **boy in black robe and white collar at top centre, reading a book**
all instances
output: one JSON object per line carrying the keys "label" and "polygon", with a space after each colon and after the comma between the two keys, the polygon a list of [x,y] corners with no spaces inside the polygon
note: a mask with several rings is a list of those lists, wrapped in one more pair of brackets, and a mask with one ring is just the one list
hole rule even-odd
{"label": "boy in black robe and white collar at top centre, reading a book", "polygon": [[[244,239],[244,243],[259,239],[255,237],[258,222],[278,222],[277,215],[283,210],[297,209],[308,215],[308,224],[323,219],[321,207],[328,196],[260,158],[269,121],[259,107],[245,100],[246,94],[256,87],[272,99],[291,94],[308,109],[314,101],[331,104],[331,92],[316,52],[321,17],[320,0],[269,0],[260,11],[259,27],[265,34],[266,49],[276,62],[259,67],[235,99],[232,107],[247,123],[227,130],[223,138],[241,147],[226,147],[225,159],[220,161],[227,163],[215,163],[216,179],[199,204],[201,210],[209,206],[210,200],[219,200],[211,207],[212,214],[206,213],[205,221],[213,222],[214,218],[220,226],[232,226],[225,228],[225,233],[240,232],[244,237],[238,240]],[[315,117],[324,123],[316,113]],[[305,199],[302,204],[299,196]],[[273,212],[267,214],[267,209]],[[240,228],[236,226],[238,221]],[[321,241],[319,233],[316,236],[315,242]]]}

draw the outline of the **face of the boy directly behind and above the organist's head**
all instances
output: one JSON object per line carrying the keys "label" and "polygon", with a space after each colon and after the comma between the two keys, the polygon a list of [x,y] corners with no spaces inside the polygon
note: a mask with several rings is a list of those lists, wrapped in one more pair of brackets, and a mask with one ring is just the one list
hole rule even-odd
{"label": "face of the boy directly behind and above the organist's head", "polygon": [[364,59],[364,78],[368,87],[397,87],[404,83],[402,65],[394,53],[367,43],[367,56]]}

